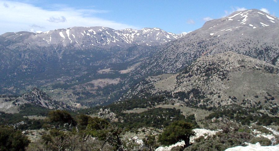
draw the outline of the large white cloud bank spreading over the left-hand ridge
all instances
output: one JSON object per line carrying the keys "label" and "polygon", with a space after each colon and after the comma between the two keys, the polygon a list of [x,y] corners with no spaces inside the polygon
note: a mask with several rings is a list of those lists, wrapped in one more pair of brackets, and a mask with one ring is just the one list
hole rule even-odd
{"label": "large white cloud bank spreading over the left-hand ridge", "polygon": [[[23,2],[0,0],[0,34],[5,32],[54,30],[74,26],[106,26],[113,29],[138,27],[93,16],[108,11],[63,6],[51,10]],[[42,27],[44,29],[42,29]]]}

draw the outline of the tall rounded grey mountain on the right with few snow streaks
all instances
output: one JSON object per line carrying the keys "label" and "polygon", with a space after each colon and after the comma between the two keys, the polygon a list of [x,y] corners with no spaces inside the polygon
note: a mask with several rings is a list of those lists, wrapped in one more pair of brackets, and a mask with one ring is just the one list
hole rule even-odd
{"label": "tall rounded grey mountain on the right with few snow streaks", "polygon": [[176,73],[199,56],[237,52],[279,65],[279,19],[256,9],[237,11],[206,22],[202,28],[160,46],[131,73],[138,76]]}

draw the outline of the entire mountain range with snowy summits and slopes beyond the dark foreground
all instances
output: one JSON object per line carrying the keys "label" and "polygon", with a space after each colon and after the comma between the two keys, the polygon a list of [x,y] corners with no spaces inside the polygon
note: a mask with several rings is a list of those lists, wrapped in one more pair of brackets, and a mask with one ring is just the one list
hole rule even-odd
{"label": "entire mountain range with snowy summits and slopes beyond the dark foreground", "polygon": [[265,99],[270,107],[278,103],[278,34],[279,19],[256,9],[188,34],[107,27],[8,32],[0,36],[0,94],[37,86],[68,105],[165,94],[192,106],[243,99],[244,106],[257,106]]}

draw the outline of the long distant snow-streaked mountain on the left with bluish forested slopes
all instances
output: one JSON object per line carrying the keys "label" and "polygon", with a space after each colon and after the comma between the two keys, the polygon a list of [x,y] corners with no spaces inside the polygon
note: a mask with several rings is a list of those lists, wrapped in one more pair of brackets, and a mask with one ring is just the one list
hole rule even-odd
{"label": "long distant snow-streaked mountain on the left with bluish forested slopes", "polygon": [[184,35],[160,28],[114,30],[108,27],[8,32],[0,36],[0,87],[25,87],[34,82],[41,85],[84,74],[94,77],[97,70],[112,66],[125,69],[130,63],[150,57],[156,46]]}

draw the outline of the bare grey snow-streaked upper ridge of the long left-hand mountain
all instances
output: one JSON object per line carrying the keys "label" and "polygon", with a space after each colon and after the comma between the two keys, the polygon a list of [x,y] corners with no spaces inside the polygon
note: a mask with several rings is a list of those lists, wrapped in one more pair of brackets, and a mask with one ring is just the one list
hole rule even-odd
{"label": "bare grey snow-streaked upper ridge of the long left-hand mountain", "polygon": [[74,47],[128,47],[137,45],[161,45],[178,39],[186,34],[173,34],[160,28],[143,28],[141,30],[114,30],[108,27],[73,27],[56,29],[42,33],[9,32],[1,35],[5,41],[20,45],[62,45]]}

